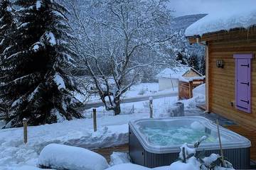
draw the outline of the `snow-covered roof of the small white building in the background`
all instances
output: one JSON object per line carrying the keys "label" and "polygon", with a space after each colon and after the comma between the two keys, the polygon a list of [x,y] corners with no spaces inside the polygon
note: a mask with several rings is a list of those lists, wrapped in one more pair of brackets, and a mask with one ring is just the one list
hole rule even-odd
{"label": "snow-covered roof of the small white building in the background", "polygon": [[166,68],[156,75],[157,78],[171,78],[171,79],[179,79],[183,74],[188,72],[191,67],[173,67]]}

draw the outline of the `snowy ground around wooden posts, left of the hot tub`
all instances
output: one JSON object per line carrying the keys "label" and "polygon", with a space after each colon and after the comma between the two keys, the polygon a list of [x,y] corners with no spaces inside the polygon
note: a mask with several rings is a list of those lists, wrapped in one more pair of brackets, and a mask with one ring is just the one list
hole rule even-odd
{"label": "snowy ground around wooden posts, left of the hot tub", "polygon": [[23,144],[22,128],[0,130],[0,169],[7,166],[35,166],[41,149],[53,142],[88,149],[123,145],[128,142],[127,123],[139,118],[148,118],[148,114],[98,118],[97,132],[92,130],[92,119],[28,127],[27,145]]}

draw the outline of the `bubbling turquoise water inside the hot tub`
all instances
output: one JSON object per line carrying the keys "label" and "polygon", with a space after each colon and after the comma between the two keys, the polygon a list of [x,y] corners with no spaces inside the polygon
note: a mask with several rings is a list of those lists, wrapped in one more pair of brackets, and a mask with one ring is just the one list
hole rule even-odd
{"label": "bubbling turquoise water inside the hot tub", "polygon": [[[211,134],[206,127],[198,122],[181,123],[180,125],[155,124],[153,126],[140,126],[139,130],[153,145],[170,146],[183,143],[193,144],[201,137],[206,136],[205,143],[218,142],[216,134]],[[225,141],[225,138],[221,137]]]}

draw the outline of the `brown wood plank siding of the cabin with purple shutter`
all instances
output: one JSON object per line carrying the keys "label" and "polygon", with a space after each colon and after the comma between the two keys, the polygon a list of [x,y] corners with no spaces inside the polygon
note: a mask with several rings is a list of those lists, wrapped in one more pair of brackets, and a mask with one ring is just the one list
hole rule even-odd
{"label": "brown wood plank siding of the cabin with purple shutter", "polygon": [[[236,33],[235,33],[236,32]],[[203,36],[209,56],[209,109],[242,125],[256,128],[256,30],[233,30]],[[235,108],[234,54],[254,54],[252,59],[252,113]],[[216,60],[224,61],[224,68],[216,67]]]}

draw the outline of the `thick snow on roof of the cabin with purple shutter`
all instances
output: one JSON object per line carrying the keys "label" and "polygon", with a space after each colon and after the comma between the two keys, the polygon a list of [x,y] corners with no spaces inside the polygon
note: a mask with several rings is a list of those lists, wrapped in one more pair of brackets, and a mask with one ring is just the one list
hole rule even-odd
{"label": "thick snow on roof of the cabin with purple shutter", "polygon": [[201,18],[186,29],[186,36],[203,35],[220,30],[250,28],[256,25],[256,1],[230,1],[228,6],[220,6],[214,13]]}

